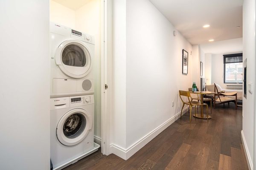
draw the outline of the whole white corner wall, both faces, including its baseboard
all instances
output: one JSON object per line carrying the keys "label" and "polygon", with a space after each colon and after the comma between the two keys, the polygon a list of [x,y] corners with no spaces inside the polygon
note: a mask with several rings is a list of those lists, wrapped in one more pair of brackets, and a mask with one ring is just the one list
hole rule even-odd
{"label": "whole white corner wall, both faces, including its baseboard", "polygon": [[[111,152],[123,159],[175,120],[182,106],[178,90],[192,86],[192,45],[174,30],[148,0],[113,1]],[[182,49],[189,52],[187,75]]]}

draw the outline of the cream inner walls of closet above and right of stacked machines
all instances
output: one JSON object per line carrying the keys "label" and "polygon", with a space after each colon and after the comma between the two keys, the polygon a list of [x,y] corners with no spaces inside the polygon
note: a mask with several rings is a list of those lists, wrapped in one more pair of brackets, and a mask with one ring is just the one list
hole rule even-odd
{"label": "cream inner walls of closet above and right of stacked machines", "polygon": [[51,0],[50,21],[90,34],[95,38],[95,56],[93,58],[94,135],[96,139],[101,139],[101,0],[88,0],[77,10],[72,10]]}

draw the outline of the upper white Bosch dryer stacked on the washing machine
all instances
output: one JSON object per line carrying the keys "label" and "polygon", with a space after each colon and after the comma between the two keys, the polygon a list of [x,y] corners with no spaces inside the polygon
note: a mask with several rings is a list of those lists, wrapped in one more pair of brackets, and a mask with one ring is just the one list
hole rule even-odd
{"label": "upper white Bosch dryer stacked on the washing machine", "polygon": [[51,98],[94,93],[94,44],[88,34],[50,23]]}

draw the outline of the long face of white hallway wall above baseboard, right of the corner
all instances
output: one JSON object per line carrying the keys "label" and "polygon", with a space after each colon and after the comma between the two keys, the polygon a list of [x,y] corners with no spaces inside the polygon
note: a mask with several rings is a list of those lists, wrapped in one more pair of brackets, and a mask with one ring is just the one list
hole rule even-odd
{"label": "long face of white hallway wall above baseboard, right of the corner", "polygon": [[[179,32],[173,36],[174,26],[148,0],[127,0],[126,5],[126,146],[130,147],[181,110],[178,90],[192,86],[192,46]],[[188,75],[182,75],[183,48],[189,52]]]}

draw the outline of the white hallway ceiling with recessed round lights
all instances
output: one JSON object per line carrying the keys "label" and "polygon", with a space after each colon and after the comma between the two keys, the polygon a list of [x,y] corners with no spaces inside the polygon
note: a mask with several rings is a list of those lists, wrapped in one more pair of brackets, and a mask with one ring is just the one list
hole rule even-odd
{"label": "white hallway ceiling with recessed round lights", "polygon": [[243,0],[150,1],[192,45],[242,37]]}

